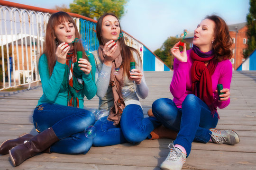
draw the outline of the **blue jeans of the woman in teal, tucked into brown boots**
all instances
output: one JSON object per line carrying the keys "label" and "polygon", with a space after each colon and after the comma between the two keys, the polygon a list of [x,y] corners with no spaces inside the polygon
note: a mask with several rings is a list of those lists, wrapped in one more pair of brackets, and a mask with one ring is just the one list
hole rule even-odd
{"label": "blue jeans of the woman in teal, tucked into brown boots", "polygon": [[60,139],[50,147],[55,153],[87,153],[92,139],[85,137],[84,129],[95,122],[95,116],[88,110],[43,103],[34,110],[33,121],[40,132],[52,127]]}

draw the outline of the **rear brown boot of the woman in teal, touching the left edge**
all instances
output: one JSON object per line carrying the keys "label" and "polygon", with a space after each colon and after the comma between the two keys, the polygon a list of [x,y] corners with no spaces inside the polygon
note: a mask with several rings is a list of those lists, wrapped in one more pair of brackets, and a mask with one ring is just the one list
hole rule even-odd
{"label": "rear brown boot of the woman in teal, touching the left edge", "polygon": [[24,141],[30,140],[32,137],[34,137],[34,136],[26,133],[26,134],[22,134],[17,139],[8,139],[8,140],[4,141],[0,146],[0,154],[1,155],[8,154],[8,151],[11,148],[13,148],[14,146],[17,146],[19,144],[23,144]]}

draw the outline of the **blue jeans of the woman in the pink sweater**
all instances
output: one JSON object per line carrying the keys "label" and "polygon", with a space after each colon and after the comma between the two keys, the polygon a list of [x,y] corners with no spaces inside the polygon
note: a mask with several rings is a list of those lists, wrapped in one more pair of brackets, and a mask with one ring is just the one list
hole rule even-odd
{"label": "blue jeans of the woman in the pink sweater", "polygon": [[182,145],[187,156],[193,140],[207,143],[210,140],[210,128],[216,127],[218,115],[212,116],[209,107],[194,94],[188,94],[178,108],[171,99],[162,98],[152,104],[152,112],[165,127],[178,131],[174,144]]}

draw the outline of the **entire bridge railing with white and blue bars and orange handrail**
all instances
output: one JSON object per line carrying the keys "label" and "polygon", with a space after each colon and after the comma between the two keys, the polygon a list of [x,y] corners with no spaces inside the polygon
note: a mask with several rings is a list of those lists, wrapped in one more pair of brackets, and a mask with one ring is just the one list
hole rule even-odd
{"label": "entire bridge railing with white and blue bars and orange handrail", "polygon": [[[42,11],[44,8],[40,9]],[[41,11],[37,11],[37,8],[0,5],[0,90],[20,85],[29,85],[30,88],[31,83],[40,81],[38,59],[44,50],[46,25],[51,15],[49,12],[54,12],[50,9]],[[80,31],[84,48],[87,51],[97,50],[97,21],[77,14],[71,15]],[[123,34],[126,44],[137,49],[144,61],[144,45],[129,34]],[[161,64],[164,65],[162,61]],[[151,70],[155,71],[155,67]]]}

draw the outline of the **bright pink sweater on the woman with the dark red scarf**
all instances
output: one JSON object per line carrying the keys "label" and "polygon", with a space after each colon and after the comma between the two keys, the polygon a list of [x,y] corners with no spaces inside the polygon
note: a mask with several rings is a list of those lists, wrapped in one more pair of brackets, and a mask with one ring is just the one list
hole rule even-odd
{"label": "bright pink sweater on the woman with the dark red scarf", "polygon": [[[192,78],[191,78],[191,67],[193,60],[190,57],[190,51],[187,51],[188,61],[181,62],[174,59],[174,75],[170,85],[170,91],[174,96],[174,103],[178,108],[182,107],[182,102],[188,94],[192,94]],[[215,92],[218,84],[222,84],[223,88],[230,89],[230,83],[232,78],[232,64],[227,60],[223,60],[218,63],[213,75],[211,76],[212,81],[212,92],[214,98],[214,105],[218,106],[219,109],[225,108],[229,105],[230,99],[223,102],[218,102],[218,93]]]}

